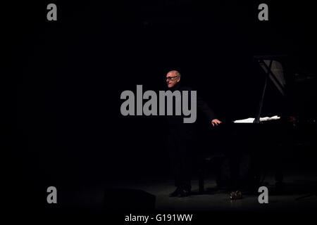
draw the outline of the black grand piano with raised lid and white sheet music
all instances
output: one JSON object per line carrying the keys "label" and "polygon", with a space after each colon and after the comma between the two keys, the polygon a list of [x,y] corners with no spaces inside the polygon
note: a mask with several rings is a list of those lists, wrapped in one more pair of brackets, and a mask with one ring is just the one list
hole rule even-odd
{"label": "black grand piano with raised lid and white sheet music", "polygon": [[208,162],[218,162],[218,186],[257,191],[273,169],[275,190],[282,192],[285,155],[298,145],[317,146],[316,77],[299,74],[284,55],[254,56],[253,63],[261,84],[256,113],[213,129],[222,141],[220,150],[201,157],[199,193]]}

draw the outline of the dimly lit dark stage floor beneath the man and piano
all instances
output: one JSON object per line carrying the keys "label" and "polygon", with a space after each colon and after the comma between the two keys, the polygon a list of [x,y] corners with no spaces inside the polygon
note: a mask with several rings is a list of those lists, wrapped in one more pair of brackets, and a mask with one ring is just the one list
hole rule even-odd
{"label": "dimly lit dark stage floor beneath the man and piano", "polygon": [[[317,176],[315,174],[285,174],[285,192],[274,193],[274,176],[266,176],[265,185],[268,186],[268,204],[259,203],[260,193],[248,193],[242,191],[243,198],[230,200],[230,191],[225,188],[217,189],[213,177],[205,180],[207,193],[199,194],[198,179],[192,180],[193,194],[186,198],[170,198],[168,193],[175,190],[173,179],[170,177],[147,177],[130,181],[106,181],[104,184],[81,185],[68,187],[60,191],[60,204],[63,208],[82,208],[102,211],[104,196],[107,188],[120,191],[142,190],[156,196],[155,208],[158,211],[290,211],[290,210],[314,210],[317,209],[317,196],[311,195],[297,200],[299,197],[309,195],[316,191]],[[112,200],[116,200],[113,196]],[[106,201],[106,200],[105,200]],[[123,203],[124,204],[124,203]]]}

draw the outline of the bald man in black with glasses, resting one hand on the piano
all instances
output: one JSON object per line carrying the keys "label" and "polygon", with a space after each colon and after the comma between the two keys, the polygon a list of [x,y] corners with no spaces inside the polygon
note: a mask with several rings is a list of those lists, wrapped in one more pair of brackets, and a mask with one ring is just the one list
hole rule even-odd
{"label": "bald man in black with glasses, resting one hand on the piano", "polygon": [[[181,75],[177,70],[171,70],[166,75],[166,84],[170,91],[194,91],[188,86],[180,84]],[[174,106],[175,107],[175,106]],[[197,96],[197,108],[209,118],[212,126],[218,126],[221,122],[216,119],[213,110]],[[170,193],[170,197],[186,197],[191,192],[191,165],[194,150],[194,124],[183,122],[182,116],[168,116],[168,152],[175,176],[176,189]]]}

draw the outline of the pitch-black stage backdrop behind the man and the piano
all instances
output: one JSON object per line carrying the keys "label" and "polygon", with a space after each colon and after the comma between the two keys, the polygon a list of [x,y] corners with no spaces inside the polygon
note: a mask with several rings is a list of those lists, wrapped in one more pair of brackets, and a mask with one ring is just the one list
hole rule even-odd
{"label": "pitch-black stage backdrop behind the man and the piano", "polygon": [[[120,115],[122,91],[163,90],[169,70],[223,121],[254,115],[263,81],[254,55],[287,54],[294,73],[316,76],[316,9],[303,1],[54,1],[58,20],[47,21],[49,3],[1,12],[8,186],[169,174],[163,117]],[[290,115],[316,115],[315,84],[299,86]]]}

